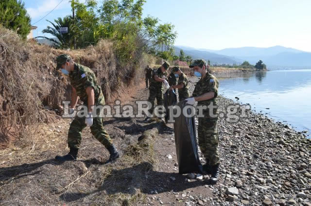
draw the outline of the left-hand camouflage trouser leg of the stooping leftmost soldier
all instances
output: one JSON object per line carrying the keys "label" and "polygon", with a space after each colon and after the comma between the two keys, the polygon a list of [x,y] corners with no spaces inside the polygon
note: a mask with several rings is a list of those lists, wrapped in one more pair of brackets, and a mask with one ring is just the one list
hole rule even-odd
{"label": "left-hand camouflage trouser leg of the stooping leftmost soldier", "polygon": [[68,147],[79,149],[82,138],[82,130],[86,127],[85,118],[75,117],[71,122],[68,132]]}

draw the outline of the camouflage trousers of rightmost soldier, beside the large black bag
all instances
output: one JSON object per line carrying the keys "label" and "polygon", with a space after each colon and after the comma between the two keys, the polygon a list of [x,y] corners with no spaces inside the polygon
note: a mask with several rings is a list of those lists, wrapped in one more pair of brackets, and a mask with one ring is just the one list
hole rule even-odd
{"label": "camouflage trousers of rightmost soldier, beside the large black bag", "polygon": [[218,154],[217,118],[199,118],[198,139],[202,154],[208,165],[216,165],[220,162]]}

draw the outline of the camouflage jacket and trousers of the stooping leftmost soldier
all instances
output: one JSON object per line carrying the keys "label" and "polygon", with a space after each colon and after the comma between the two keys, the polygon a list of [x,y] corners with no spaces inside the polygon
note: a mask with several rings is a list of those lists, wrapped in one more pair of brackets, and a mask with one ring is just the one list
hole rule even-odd
{"label": "camouflage jacket and trousers of the stooping leftmost soldier", "polygon": [[[80,97],[80,100],[87,105],[87,94],[86,87],[94,88],[94,104],[95,105],[104,105],[104,95],[97,82],[97,78],[94,72],[88,67],[74,64],[74,70],[69,73],[69,79],[71,86],[73,86],[77,91],[77,96]],[[97,114],[100,111],[96,111]],[[69,148],[79,149],[81,143],[81,132],[86,127],[85,123],[86,118],[75,117],[71,122],[68,132],[68,146]],[[103,118],[93,117],[93,125],[90,127],[92,135],[100,141],[106,148],[112,145],[112,140],[104,129]]]}

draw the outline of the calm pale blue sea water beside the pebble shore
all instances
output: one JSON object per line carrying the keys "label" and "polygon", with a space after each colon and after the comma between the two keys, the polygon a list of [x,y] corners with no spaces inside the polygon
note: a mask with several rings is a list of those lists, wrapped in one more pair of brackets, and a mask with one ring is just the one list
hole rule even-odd
{"label": "calm pale blue sea water beside the pebble shore", "polygon": [[[219,79],[219,94],[252,110],[311,132],[311,69],[273,70]],[[268,109],[269,108],[269,109]]]}

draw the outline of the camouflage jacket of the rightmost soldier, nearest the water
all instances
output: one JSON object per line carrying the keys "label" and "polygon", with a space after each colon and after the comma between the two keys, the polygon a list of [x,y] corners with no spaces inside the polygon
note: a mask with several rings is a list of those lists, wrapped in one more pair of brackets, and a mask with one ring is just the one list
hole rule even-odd
{"label": "camouflage jacket of the rightmost soldier, nearest the water", "polygon": [[[217,106],[217,102],[216,102],[215,98],[218,95],[218,80],[215,76],[207,73],[203,79],[201,78],[196,83],[194,91],[192,93],[192,96],[197,97],[197,96],[200,96],[200,95],[205,94],[205,93],[210,92],[210,91],[215,92],[214,98],[209,99],[209,100],[205,100],[205,101],[200,101],[200,102],[198,102],[198,106],[200,106],[200,105],[208,106],[210,103],[213,103],[214,106]],[[216,114],[217,112],[218,112],[217,109],[214,109],[213,114]],[[203,110],[203,113],[205,115],[207,115],[206,116],[207,118],[210,118],[208,107],[206,110]]]}

